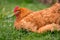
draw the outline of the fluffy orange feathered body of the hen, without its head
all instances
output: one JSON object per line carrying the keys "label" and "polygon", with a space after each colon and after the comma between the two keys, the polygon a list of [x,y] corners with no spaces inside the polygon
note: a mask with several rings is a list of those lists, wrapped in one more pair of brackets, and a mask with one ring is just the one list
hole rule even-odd
{"label": "fluffy orange feathered body of the hen, without its head", "polygon": [[[23,28],[37,33],[43,33],[49,30],[60,30],[60,2],[57,2],[47,9],[29,13],[21,20],[19,20],[20,17],[16,16],[16,23],[14,24],[16,29]],[[17,22],[17,20],[19,21]]]}

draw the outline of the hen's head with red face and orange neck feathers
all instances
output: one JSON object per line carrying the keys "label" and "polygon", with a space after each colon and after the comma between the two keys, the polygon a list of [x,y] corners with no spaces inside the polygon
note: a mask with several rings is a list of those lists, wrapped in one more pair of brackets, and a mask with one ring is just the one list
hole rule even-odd
{"label": "hen's head with red face and orange neck feathers", "polygon": [[16,15],[16,17],[25,17],[26,15],[30,14],[32,11],[27,9],[27,8],[20,8],[18,6],[16,6],[14,8],[14,14]]}

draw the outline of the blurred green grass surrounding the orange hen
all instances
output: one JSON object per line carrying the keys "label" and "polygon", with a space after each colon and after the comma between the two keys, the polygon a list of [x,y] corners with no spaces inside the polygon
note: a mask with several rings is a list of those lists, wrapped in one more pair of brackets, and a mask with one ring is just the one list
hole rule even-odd
{"label": "blurred green grass surrounding the orange hen", "polygon": [[48,7],[41,3],[19,3],[19,1],[13,2],[13,0],[0,0],[0,40],[60,40],[60,32],[57,31],[38,34],[25,30],[16,30],[14,28],[15,16],[9,19],[6,19],[6,17],[13,14],[13,9],[17,5],[34,11]]}

